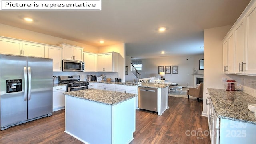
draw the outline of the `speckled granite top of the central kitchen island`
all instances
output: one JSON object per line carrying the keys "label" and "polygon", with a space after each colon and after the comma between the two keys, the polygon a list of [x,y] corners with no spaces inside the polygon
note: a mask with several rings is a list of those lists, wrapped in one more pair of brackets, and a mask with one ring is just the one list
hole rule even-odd
{"label": "speckled granite top of the central kitchen island", "polygon": [[138,96],[130,93],[121,93],[121,92],[105,91],[105,90],[97,90],[97,89],[70,91],[70,92],[64,93],[64,95],[86,99],[89,101],[95,101],[97,103],[103,103],[106,105],[116,105],[118,103],[122,103],[123,101],[132,99]]}

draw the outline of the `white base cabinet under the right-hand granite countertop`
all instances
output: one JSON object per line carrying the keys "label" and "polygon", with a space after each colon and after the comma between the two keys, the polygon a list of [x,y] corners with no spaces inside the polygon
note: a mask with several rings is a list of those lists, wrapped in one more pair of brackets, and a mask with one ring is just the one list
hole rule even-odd
{"label": "white base cabinet under the right-hand granite countertop", "polygon": [[206,105],[211,144],[256,144],[256,125],[219,118],[209,96]]}

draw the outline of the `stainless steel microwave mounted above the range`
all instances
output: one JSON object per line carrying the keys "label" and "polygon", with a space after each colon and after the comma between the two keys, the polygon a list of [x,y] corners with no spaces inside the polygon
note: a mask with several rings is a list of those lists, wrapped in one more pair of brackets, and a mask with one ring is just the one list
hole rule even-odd
{"label": "stainless steel microwave mounted above the range", "polygon": [[62,60],[62,71],[84,72],[84,62],[77,60]]}

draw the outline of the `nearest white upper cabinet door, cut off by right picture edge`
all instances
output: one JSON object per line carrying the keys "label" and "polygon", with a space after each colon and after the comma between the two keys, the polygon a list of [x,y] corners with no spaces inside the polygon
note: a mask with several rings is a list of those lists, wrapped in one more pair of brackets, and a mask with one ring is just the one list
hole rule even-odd
{"label": "nearest white upper cabinet door, cut off by right picture edge", "polygon": [[245,16],[246,25],[246,74],[256,74],[256,3]]}

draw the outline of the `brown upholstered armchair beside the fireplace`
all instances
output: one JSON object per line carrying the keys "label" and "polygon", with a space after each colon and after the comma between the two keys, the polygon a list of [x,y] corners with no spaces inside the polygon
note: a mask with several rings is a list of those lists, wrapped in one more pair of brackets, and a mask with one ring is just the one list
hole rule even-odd
{"label": "brown upholstered armchair beside the fireplace", "polygon": [[189,99],[189,96],[196,97],[198,102],[199,102],[199,98],[204,97],[203,93],[204,93],[204,83],[202,82],[199,84],[197,88],[187,89],[188,99]]}

